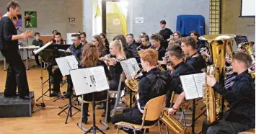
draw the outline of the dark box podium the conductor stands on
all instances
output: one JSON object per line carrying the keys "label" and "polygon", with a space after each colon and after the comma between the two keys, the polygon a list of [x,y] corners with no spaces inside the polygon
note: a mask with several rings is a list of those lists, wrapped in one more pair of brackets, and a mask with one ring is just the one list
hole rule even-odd
{"label": "dark box podium the conductor stands on", "polygon": [[30,117],[35,104],[34,91],[30,91],[32,99],[19,99],[19,97],[6,98],[0,93],[0,117]]}

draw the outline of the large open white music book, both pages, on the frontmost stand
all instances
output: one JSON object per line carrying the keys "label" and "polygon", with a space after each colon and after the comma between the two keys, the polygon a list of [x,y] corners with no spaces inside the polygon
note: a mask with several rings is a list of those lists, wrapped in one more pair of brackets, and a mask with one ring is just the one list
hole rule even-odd
{"label": "large open white music book, both pages, on the frontmost stand", "polygon": [[110,89],[103,66],[70,71],[76,95]]}

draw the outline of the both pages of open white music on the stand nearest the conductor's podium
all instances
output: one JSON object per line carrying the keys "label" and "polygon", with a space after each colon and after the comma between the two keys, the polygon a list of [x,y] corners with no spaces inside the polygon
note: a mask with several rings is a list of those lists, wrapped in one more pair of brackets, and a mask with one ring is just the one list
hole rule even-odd
{"label": "both pages of open white music on the stand nearest the conductor's podium", "polygon": [[58,68],[61,70],[62,76],[69,75],[70,70],[78,69],[78,61],[74,55],[56,58]]}

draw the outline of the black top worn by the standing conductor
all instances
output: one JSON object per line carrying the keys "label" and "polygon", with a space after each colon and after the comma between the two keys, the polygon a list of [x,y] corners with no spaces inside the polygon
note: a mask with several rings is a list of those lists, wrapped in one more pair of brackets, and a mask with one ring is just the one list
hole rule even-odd
{"label": "black top worn by the standing conductor", "polygon": [[17,51],[18,40],[12,40],[17,30],[9,17],[2,17],[0,21],[0,50]]}

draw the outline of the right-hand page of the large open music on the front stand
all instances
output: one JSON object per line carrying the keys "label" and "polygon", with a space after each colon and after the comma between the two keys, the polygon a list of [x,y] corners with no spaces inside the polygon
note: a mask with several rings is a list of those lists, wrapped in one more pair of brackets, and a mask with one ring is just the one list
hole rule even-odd
{"label": "right-hand page of the large open music on the front stand", "polygon": [[90,72],[94,76],[94,81],[96,83],[96,91],[103,91],[110,89],[110,86],[107,83],[107,77],[104,71],[103,66],[97,66],[90,68]]}

